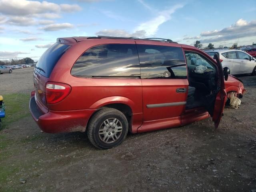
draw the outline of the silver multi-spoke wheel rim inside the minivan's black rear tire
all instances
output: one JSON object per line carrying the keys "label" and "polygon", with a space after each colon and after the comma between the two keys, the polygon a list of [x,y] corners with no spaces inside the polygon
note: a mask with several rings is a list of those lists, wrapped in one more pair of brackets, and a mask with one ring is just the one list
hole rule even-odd
{"label": "silver multi-spoke wheel rim inside the minivan's black rear tire", "polygon": [[100,125],[99,137],[104,143],[113,143],[122,134],[122,123],[117,118],[108,118]]}

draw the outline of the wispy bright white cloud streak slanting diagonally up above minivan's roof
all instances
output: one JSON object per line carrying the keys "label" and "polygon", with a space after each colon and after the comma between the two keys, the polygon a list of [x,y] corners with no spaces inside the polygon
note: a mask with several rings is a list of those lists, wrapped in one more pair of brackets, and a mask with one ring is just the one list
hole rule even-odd
{"label": "wispy bright white cloud streak slanting diagonally up above minivan's roof", "polygon": [[179,8],[182,8],[184,5],[177,4],[168,10],[159,11],[158,16],[155,18],[140,24],[135,28],[135,31],[146,31],[146,36],[152,36],[156,34],[158,27],[164,22],[171,19],[171,15]]}

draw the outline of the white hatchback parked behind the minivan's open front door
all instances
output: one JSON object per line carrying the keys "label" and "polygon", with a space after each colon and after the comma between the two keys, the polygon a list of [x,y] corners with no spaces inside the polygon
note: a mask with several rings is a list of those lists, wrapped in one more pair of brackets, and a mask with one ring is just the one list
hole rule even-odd
{"label": "white hatchback parked behind the minivan's open front door", "polygon": [[222,67],[230,68],[230,74],[256,75],[256,60],[248,53],[241,50],[209,50],[206,51],[212,58],[218,53]]}

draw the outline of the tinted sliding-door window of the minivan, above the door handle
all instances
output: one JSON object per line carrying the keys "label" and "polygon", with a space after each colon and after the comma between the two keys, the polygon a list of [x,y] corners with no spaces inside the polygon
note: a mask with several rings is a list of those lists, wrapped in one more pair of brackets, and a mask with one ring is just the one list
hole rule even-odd
{"label": "tinted sliding-door window of the minivan, above the door handle", "polygon": [[141,78],[187,78],[186,61],[180,47],[137,45]]}

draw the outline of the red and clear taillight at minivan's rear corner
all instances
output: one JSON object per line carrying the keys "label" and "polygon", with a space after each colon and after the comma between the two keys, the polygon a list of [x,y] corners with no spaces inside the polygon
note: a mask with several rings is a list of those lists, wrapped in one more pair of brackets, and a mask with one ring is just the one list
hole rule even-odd
{"label": "red and clear taillight at minivan's rear corner", "polygon": [[45,86],[45,96],[47,104],[55,104],[62,101],[71,91],[68,84],[58,82],[47,82]]}

